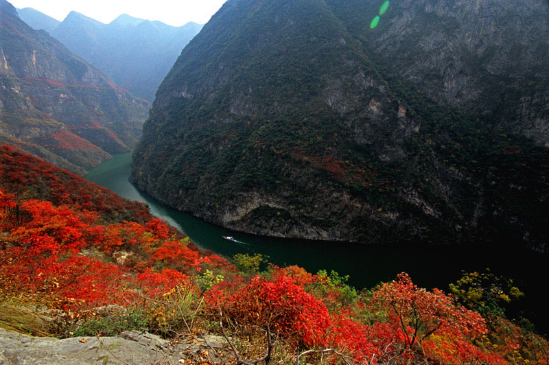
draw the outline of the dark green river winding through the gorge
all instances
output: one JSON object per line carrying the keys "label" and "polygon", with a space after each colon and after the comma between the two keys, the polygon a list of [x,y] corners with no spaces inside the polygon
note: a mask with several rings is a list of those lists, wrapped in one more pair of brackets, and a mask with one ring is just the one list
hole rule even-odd
{"label": "dark green river winding through the gorge", "polygon": [[[542,288],[547,287],[544,270],[547,255],[516,248],[486,248],[472,244],[379,247],[237,233],[165,207],[146,193],[137,191],[128,181],[130,163],[131,154],[117,155],[92,169],[86,178],[124,198],[145,202],[152,214],[179,228],[200,248],[226,257],[237,253],[260,253],[279,266],[299,265],[309,272],[336,270],[339,274],[349,275],[349,283],[358,289],[373,287],[380,281],[390,281],[399,272],[405,271],[417,285],[447,290],[449,283],[460,278],[461,270],[490,268],[495,274],[519,281],[528,296],[528,307],[532,311],[529,317],[535,320],[539,329],[548,327],[545,306],[541,307],[541,303],[546,303],[543,299],[545,289]],[[222,235],[232,235],[242,243],[226,241]]]}

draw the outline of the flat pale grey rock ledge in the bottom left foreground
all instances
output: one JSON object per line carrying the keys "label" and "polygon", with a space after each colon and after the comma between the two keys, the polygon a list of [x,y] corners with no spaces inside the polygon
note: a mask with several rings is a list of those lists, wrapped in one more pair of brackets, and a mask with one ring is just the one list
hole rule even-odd
{"label": "flat pale grey rock ledge in the bottom left foreground", "polygon": [[[226,342],[218,336],[170,344],[157,335],[128,331],[118,337],[38,338],[0,329],[0,364],[221,364]],[[212,350],[213,349],[213,350]],[[182,360],[183,362],[180,362]]]}

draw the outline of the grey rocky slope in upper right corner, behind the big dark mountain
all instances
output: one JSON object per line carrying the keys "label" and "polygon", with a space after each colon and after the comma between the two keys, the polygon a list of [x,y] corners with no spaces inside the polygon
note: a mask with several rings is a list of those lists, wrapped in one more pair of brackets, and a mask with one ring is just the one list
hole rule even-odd
{"label": "grey rocky slope in upper right corner, behind the big dark mountain", "polygon": [[549,3],[334,0],[379,63],[437,102],[549,147]]}

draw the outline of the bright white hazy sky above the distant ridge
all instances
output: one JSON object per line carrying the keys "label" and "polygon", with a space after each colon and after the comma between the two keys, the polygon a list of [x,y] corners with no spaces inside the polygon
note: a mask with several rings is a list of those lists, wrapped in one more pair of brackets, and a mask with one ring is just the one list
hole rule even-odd
{"label": "bright white hazy sky above the distant ridge", "polygon": [[189,21],[207,23],[226,0],[8,0],[16,8],[34,8],[62,21],[71,10],[103,23],[120,14],[183,25]]}

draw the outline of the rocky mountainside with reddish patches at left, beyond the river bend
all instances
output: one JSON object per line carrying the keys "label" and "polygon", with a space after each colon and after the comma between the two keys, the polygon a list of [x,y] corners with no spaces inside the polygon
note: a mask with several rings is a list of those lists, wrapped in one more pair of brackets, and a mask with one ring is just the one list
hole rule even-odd
{"label": "rocky mountainside with reddish patches at left, beyond the river bend", "polygon": [[2,143],[85,174],[132,149],[148,108],[0,0]]}

